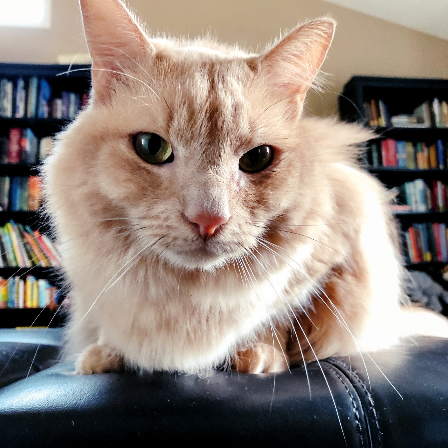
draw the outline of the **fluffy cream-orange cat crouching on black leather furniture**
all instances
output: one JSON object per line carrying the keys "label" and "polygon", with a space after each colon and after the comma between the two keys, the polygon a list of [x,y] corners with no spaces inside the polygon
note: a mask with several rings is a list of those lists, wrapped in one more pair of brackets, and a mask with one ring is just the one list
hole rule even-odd
{"label": "fluffy cream-orange cat crouching on black leather furniture", "polygon": [[401,308],[388,192],[357,162],[372,134],[302,114],[332,19],[253,54],[80,5],[90,102],[43,167],[78,374],[277,372],[388,346],[406,315],[448,334]]}

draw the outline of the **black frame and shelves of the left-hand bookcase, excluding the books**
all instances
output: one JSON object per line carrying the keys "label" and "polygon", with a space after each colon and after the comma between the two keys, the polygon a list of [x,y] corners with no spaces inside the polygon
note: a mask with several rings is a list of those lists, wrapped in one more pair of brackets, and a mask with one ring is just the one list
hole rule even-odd
{"label": "black frame and shelves of the left-hand bookcase, excluding the books", "polygon": [[[68,73],[67,73],[68,72]],[[26,90],[27,81],[30,77],[45,78],[52,88],[52,98],[60,97],[63,90],[82,94],[90,90],[90,66],[89,65],[37,65],[37,64],[0,64],[0,79],[7,78],[13,82],[14,88],[17,79],[22,77],[25,80]],[[28,91],[26,92],[28,95]],[[39,92],[38,92],[39,97]],[[15,99],[14,99],[15,101]],[[13,113],[14,113],[13,102]],[[14,118],[0,117],[0,137],[8,138],[10,128],[30,128],[36,138],[39,140],[44,137],[53,136],[69,123],[68,119],[58,118]],[[39,166],[30,166],[27,164],[1,164],[0,176],[7,177],[28,177],[39,175]],[[11,211],[11,198],[9,198],[9,208],[0,211],[0,225],[9,220],[29,225],[32,229],[39,229],[41,232],[48,230],[47,222],[44,216],[38,212],[32,211]],[[20,276],[26,278],[27,275],[33,275],[38,279],[48,280],[52,285],[61,287],[60,274],[55,268],[43,268],[34,266],[26,267],[2,267],[0,276],[10,278]],[[64,320],[63,313],[57,313],[48,308],[1,308],[0,309],[0,327],[29,327],[36,326],[55,327]],[[34,323],[33,323],[34,322]]]}

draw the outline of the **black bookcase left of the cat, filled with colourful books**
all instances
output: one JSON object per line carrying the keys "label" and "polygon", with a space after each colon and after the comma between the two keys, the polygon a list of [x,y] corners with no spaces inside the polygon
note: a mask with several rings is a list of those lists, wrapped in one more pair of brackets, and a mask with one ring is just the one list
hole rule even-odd
{"label": "black bookcase left of the cat, filled with colourful books", "polygon": [[89,88],[89,66],[0,64],[0,327],[61,323],[60,261],[39,214],[39,165]]}

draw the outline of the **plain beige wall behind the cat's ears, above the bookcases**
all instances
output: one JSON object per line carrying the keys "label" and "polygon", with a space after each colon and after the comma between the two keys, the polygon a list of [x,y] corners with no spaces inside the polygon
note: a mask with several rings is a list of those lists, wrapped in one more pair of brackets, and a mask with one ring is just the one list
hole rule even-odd
{"label": "plain beige wall behind the cat's ears, above the bookcases", "polygon": [[[49,30],[0,27],[0,60],[55,62],[60,53],[86,51],[77,0],[52,0]],[[310,94],[318,114],[336,112],[337,93],[353,74],[448,78],[448,41],[321,0],[129,0],[149,29],[197,35],[262,49],[280,30],[330,14],[336,37],[323,69],[332,86]]]}

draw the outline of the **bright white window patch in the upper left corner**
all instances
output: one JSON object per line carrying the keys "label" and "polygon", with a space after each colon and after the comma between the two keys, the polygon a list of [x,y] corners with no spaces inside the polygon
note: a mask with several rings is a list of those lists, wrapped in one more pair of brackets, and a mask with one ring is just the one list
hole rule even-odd
{"label": "bright white window patch in the upper left corner", "polygon": [[0,26],[50,28],[51,0],[0,0]]}

